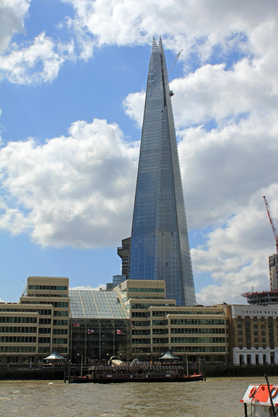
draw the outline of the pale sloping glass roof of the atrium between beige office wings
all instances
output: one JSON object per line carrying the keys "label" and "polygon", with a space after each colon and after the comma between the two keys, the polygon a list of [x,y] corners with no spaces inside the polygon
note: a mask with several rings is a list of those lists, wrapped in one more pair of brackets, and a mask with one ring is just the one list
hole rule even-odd
{"label": "pale sloping glass roof of the atrium between beige office wings", "polygon": [[71,319],[127,319],[115,291],[69,290]]}

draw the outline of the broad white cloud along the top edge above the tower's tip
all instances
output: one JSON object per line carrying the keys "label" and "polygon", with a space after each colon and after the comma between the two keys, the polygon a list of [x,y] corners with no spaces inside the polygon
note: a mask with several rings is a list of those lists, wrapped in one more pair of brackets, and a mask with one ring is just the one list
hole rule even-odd
{"label": "broad white cloud along the top edge above the tower's tip", "polygon": [[277,18],[274,1],[223,0],[221,7],[218,1],[206,0],[62,1],[74,7],[76,14],[68,19],[69,27],[83,41],[81,47],[89,45],[90,53],[93,46],[149,45],[153,35],[161,35],[169,49],[185,49],[185,58],[194,52],[202,60],[208,59],[215,46],[222,53],[235,45],[244,52],[262,53],[265,30],[258,28],[261,24],[271,27]]}

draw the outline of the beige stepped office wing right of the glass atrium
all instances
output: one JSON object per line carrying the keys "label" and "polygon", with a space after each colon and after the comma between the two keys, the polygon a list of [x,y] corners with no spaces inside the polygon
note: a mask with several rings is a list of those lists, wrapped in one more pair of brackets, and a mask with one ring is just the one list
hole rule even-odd
{"label": "beige stepped office wing right of the glass atrium", "polygon": [[141,360],[154,360],[170,348],[185,363],[229,363],[226,308],[178,307],[166,298],[165,281],[129,279],[117,288],[132,321],[132,348]]}

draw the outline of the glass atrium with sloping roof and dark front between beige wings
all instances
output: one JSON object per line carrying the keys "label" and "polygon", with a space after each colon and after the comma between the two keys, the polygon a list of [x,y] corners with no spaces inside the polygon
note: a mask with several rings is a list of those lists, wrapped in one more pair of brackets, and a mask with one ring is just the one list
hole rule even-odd
{"label": "glass atrium with sloping roof and dark front between beige wings", "polygon": [[[130,343],[129,315],[115,291],[69,290],[69,354],[73,363],[106,363]],[[120,330],[122,333],[118,334]]]}

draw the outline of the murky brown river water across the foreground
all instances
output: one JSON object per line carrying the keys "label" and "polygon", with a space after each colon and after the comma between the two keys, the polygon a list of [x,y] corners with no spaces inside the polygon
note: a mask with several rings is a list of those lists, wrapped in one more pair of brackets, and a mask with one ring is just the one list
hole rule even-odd
{"label": "murky brown river water across the foreground", "polygon": [[[263,377],[206,382],[64,384],[0,381],[1,417],[238,417],[249,384]],[[270,383],[278,384],[278,377]]]}

